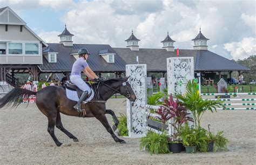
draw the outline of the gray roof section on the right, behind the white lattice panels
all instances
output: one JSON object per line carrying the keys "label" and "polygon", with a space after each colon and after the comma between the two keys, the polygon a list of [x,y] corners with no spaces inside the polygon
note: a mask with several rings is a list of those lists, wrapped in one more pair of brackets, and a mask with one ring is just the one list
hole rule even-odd
{"label": "gray roof section on the right, behind the white lattice panels", "polygon": [[[148,71],[166,71],[166,58],[177,57],[176,51],[168,52],[165,49],[139,49],[132,51],[129,48],[113,48],[127,64],[147,64]],[[218,54],[205,50],[179,49],[179,57],[193,57],[195,71],[239,71],[249,70],[232,60],[228,60]]]}

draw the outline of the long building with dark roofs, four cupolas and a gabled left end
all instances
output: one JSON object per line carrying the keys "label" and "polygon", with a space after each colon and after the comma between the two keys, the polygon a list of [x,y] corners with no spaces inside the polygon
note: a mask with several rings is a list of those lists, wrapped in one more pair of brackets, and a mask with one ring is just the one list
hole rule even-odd
{"label": "long building with dark roofs, four cupolas and a gabled left end", "polygon": [[[59,37],[59,43],[45,43],[38,37],[14,11],[9,7],[0,9],[0,85],[19,86],[16,73],[29,73],[36,83],[42,73],[61,73],[68,75],[72,65],[78,58],[78,50],[86,48],[90,56],[87,63],[99,76],[101,73],[115,73],[116,77],[125,75],[126,64],[147,64],[147,76],[153,73],[163,73],[165,77],[166,59],[177,57],[174,43],[179,41],[171,38],[167,31],[164,40],[159,40],[163,46],[159,48],[139,47],[140,39],[136,31],[131,31],[126,47],[111,47],[108,44],[76,44],[73,42],[75,31],[65,28]],[[154,34],[152,34],[154,35]],[[196,36],[196,35],[195,35]],[[139,38],[142,36],[139,36]],[[124,39],[126,37],[124,36]],[[176,41],[175,41],[176,40]],[[191,49],[179,49],[180,57],[194,58],[195,73],[217,82],[221,77],[231,77],[231,73],[250,70],[219,54],[207,49],[207,40],[201,28],[198,35],[192,39]],[[116,41],[121,42],[121,41]],[[138,61],[137,61],[138,58]]]}

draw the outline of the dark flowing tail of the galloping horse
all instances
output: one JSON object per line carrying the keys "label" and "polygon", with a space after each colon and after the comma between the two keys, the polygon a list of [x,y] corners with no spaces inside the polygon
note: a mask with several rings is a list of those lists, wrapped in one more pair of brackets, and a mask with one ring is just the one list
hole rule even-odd
{"label": "dark flowing tail of the galloping horse", "polygon": [[36,92],[29,91],[23,88],[14,88],[9,93],[4,95],[2,99],[0,99],[0,108],[3,108],[5,105],[10,106],[12,102],[12,107],[17,107],[23,102],[24,97],[29,98],[30,95],[36,95]]}

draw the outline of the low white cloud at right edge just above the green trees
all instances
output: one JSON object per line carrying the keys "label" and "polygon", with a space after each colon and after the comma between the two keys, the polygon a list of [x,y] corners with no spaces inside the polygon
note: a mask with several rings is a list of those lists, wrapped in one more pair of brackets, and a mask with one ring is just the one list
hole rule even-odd
{"label": "low white cloud at right edge just above the green trees", "polygon": [[231,42],[224,44],[224,49],[231,52],[233,59],[244,59],[256,54],[256,39],[245,37],[241,42]]}

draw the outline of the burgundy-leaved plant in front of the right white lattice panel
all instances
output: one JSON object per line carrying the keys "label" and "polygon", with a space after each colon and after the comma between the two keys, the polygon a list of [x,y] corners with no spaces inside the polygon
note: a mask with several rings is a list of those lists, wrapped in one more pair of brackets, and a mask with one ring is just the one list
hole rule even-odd
{"label": "burgundy-leaved plant in front of the right white lattice panel", "polygon": [[183,123],[187,121],[193,122],[193,119],[188,116],[190,113],[187,113],[187,109],[178,98],[176,98],[176,101],[173,100],[172,94],[169,100],[165,99],[164,102],[165,104],[161,105],[159,109],[161,109],[161,112],[165,112],[165,116],[169,117],[168,120],[171,119],[171,125],[173,126],[171,140],[178,141]]}

